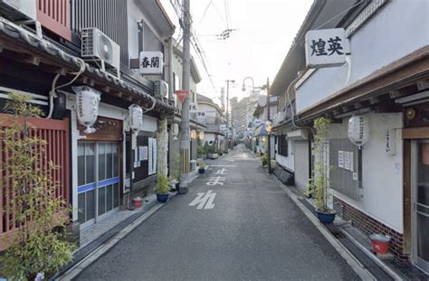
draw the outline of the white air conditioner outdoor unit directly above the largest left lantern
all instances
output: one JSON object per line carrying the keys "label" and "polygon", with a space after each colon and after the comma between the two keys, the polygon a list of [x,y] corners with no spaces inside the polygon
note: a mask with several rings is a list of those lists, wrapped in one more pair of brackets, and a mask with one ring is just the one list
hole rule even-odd
{"label": "white air conditioner outdoor unit directly above the largest left lantern", "polygon": [[100,61],[101,69],[114,68],[119,76],[120,47],[100,29],[91,27],[81,30],[81,57]]}

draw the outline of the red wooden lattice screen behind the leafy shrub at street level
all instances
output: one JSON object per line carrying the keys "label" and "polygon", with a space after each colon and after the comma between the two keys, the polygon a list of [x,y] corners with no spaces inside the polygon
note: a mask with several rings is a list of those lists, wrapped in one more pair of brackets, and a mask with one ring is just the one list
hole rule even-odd
{"label": "red wooden lattice screen behind the leafy shrub at street level", "polygon": [[[1,126],[7,126],[7,119],[5,114],[0,114],[0,120],[3,120]],[[42,118],[29,118],[29,123],[33,126],[31,129],[31,136],[37,136],[46,141],[44,154],[36,149],[38,168],[43,168],[48,165],[50,161],[58,166],[51,176],[53,182],[59,183],[55,192],[57,197],[61,197],[66,201],[67,206],[70,204],[70,152],[69,152],[69,122],[68,119],[64,120],[47,120]],[[7,159],[10,157],[5,153],[5,144],[3,136],[0,136],[0,177],[4,179],[6,174],[19,173],[14,171]],[[0,251],[7,247],[8,241],[10,242],[17,226],[14,225],[15,213],[14,208],[5,208],[10,206],[14,198],[12,192],[12,181],[0,181]]]}

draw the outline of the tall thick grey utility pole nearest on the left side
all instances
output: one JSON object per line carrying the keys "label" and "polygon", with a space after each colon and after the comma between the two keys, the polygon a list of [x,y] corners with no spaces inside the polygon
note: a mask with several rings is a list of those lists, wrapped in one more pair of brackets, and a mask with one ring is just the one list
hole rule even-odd
{"label": "tall thick grey utility pole nearest on the left side", "polygon": [[191,77],[191,14],[190,0],[183,0],[182,19],[183,19],[183,69],[182,69],[182,88],[187,91],[185,100],[182,103],[182,134],[180,136],[180,186],[179,194],[186,194],[189,185],[189,80]]}

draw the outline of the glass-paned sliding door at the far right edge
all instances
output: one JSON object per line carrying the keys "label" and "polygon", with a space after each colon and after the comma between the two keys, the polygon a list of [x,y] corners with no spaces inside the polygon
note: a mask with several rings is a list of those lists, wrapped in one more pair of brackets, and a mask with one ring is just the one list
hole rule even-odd
{"label": "glass-paned sliding door at the far right edge", "polygon": [[413,260],[429,272],[429,139],[412,145]]}

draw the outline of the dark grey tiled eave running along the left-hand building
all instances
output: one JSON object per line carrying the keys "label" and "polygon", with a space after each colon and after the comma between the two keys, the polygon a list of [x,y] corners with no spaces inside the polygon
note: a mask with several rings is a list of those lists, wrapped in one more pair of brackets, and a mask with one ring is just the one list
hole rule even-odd
{"label": "dark grey tiled eave running along the left-hand building", "polygon": [[[56,61],[61,61],[62,66],[70,67],[73,70],[81,68],[80,58],[72,56],[71,54],[62,51],[57,46],[53,45],[51,42],[43,40],[33,33],[21,28],[14,23],[11,23],[5,18],[0,17],[0,42],[2,38],[12,39],[16,43],[21,43],[21,46],[25,49],[28,49],[29,53],[33,51],[43,52],[44,55],[54,58]],[[24,44],[23,44],[24,43]],[[88,63],[85,63],[85,70],[82,75],[89,74],[91,77],[96,77],[99,80],[102,80],[104,84],[112,88],[119,88],[120,90],[132,95],[142,98],[147,102],[152,102],[152,96],[148,93],[145,93],[143,90],[138,89],[138,87],[130,85],[124,80],[120,80],[110,74],[94,68]],[[167,110],[169,112],[174,111],[174,107],[169,105],[166,101],[157,99],[157,109]]]}

